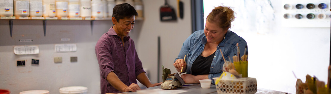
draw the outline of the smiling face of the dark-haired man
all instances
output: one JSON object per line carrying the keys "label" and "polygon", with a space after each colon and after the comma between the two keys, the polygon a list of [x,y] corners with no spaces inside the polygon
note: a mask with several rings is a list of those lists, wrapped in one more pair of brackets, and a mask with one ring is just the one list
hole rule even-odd
{"label": "smiling face of the dark-haired man", "polygon": [[114,23],[114,30],[117,33],[118,36],[120,36],[122,39],[125,36],[128,36],[132,28],[134,27],[134,21],[136,16],[131,16],[124,19],[119,19],[119,21],[116,21],[115,17],[112,18],[112,21]]}

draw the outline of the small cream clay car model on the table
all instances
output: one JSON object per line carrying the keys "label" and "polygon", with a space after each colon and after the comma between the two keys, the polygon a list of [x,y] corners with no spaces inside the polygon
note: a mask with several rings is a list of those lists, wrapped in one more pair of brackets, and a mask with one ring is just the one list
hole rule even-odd
{"label": "small cream clay car model on the table", "polygon": [[166,81],[161,84],[162,89],[174,89],[177,87],[182,87],[183,85],[175,76],[169,76],[166,78]]}

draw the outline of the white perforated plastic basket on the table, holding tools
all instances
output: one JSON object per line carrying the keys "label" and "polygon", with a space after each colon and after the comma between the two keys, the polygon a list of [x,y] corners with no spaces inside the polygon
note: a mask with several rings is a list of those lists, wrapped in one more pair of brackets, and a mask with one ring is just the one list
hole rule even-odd
{"label": "white perforated plastic basket on the table, holding tools", "polygon": [[256,78],[219,79],[214,77],[218,94],[254,94],[257,92]]}

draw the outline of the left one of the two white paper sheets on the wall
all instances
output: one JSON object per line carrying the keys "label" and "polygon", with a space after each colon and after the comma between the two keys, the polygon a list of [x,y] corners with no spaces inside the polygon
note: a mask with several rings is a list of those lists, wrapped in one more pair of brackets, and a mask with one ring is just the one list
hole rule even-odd
{"label": "left one of the two white paper sheets on the wall", "polygon": [[39,54],[39,47],[36,46],[36,45],[32,45],[32,46],[14,46],[14,53],[16,55]]}

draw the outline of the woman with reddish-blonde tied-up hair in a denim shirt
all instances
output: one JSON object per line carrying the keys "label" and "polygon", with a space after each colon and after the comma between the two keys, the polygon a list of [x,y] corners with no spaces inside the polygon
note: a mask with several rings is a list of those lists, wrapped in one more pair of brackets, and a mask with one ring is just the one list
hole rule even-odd
{"label": "woman with reddish-blonde tied-up hair in a denim shirt", "polygon": [[222,50],[225,61],[233,61],[232,57],[237,53],[236,44],[239,43],[240,53],[243,55],[246,41],[229,30],[235,19],[234,15],[235,12],[230,7],[215,7],[206,18],[205,29],[195,31],[185,40],[173,63],[178,72],[183,67],[186,74],[181,77],[185,83],[200,83],[200,79],[220,76],[224,60],[219,49]]}

